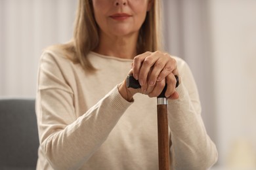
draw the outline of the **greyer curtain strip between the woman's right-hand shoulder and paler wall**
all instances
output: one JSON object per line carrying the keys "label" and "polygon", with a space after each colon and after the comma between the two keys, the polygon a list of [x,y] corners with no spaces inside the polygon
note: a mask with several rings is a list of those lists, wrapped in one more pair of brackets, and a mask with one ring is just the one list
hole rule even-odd
{"label": "greyer curtain strip between the woman's right-hand shoulder and paler wall", "polygon": [[209,10],[205,0],[163,1],[167,51],[184,59],[196,80],[202,118],[208,135],[217,143],[217,114],[210,46]]}

